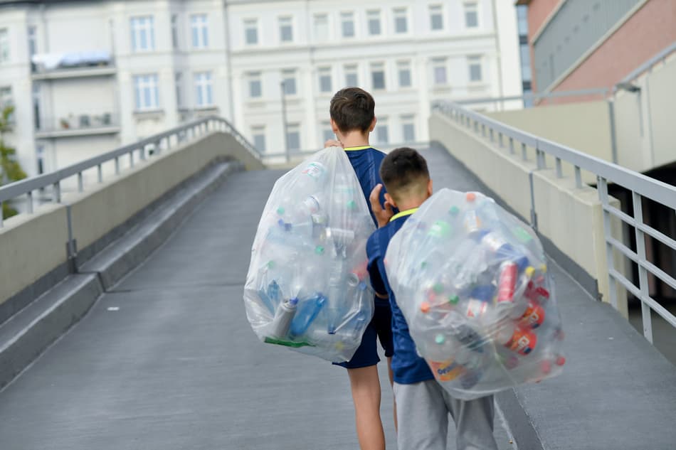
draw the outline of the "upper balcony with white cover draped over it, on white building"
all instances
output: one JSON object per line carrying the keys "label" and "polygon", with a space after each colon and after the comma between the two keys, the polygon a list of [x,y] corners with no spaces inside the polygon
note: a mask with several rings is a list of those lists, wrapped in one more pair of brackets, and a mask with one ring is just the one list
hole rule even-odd
{"label": "upper balcony with white cover draped over it, on white building", "polygon": [[112,56],[105,50],[34,55],[31,70],[33,80],[107,77],[117,73]]}

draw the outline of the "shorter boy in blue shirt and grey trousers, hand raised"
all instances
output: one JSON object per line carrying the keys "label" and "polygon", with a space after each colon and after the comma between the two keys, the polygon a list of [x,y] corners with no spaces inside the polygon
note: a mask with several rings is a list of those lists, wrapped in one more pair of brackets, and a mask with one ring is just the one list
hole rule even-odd
{"label": "shorter boy in blue shirt and grey trousers, hand raised", "polygon": [[[448,414],[455,420],[458,450],[497,450],[493,438],[493,397],[461,401],[451,397],[434,380],[416,345],[408,333],[408,325],[397,306],[387,280],[384,257],[387,245],[406,219],[415,213],[432,195],[432,180],[427,163],[417,151],[401,148],[385,157],[380,175],[387,192],[385,198],[401,213],[392,215],[387,223],[379,220],[379,229],[366,244],[369,274],[376,293],[389,295],[394,335],[394,400],[398,422],[399,450],[445,450],[448,434]],[[376,186],[371,195],[372,208],[379,217],[381,207]]]}

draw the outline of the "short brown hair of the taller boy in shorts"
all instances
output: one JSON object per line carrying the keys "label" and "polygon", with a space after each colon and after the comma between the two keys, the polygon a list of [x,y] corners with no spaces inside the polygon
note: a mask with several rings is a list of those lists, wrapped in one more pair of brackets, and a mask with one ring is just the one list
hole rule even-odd
{"label": "short brown hair of the taller boy in shorts", "polygon": [[341,132],[358,129],[365,133],[375,117],[375,107],[376,102],[369,92],[359,87],[345,87],[331,99],[329,113]]}

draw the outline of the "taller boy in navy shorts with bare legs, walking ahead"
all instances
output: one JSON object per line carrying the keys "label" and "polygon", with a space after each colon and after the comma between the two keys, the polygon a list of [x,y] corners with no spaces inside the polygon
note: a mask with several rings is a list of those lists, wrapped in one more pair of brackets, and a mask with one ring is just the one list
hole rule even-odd
{"label": "taller boy in navy shorts with bare legs, walking ahead", "polygon": [[[324,146],[342,146],[347,152],[354,173],[357,174],[361,190],[364,193],[369,212],[377,223],[376,215],[371,210],[369,195],[374,187],[381,183],[379,168],[385,154],[371,147],[369,134],[376,126],[374,115],[375,102],[373,97],[359,87],[347,87],[339,90],[331,99],[329,112],[331,127],[338,141],[329,140]],[[384,195],[380,195],[384,202]],[[383,203],[380,203],[383,204]],[[385,217],[391,215],[392,210],[387,203],[385,209],[379,208],[379,214]],[[380,418],[380,379],[377,364],[380,361],[376,339],[385,350],[388,361],[390,382],[392,373],[389,369],[393,346],[391,311],[387,296],[376,296],[374,301],[374,317],[366,327],[361,345],[354,356],[347,363],[340,363],[347,368],[352,400],[354,401],[354,415],[357,422],[357,437],[361,450],[384,450],[385,434]],[[395,416],[396,426],[396,416]]]}

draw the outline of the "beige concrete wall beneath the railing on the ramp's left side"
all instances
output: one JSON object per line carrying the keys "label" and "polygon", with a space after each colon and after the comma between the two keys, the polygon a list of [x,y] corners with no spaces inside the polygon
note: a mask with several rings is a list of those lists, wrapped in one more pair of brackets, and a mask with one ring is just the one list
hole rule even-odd
{"label": "beige concrete wall beneath the railing on the ramp's left side", "polygon": [[234,156],[248,168],[262,168],[229,134],[213,133],[165,154],[137,162],[84,193],[63,195],[61,205],[43,205],[33,215],[17,215],[0,228],[0,304],[67,261],[71,206],[73,238],[84,248],[125,223],[219,156]]}

